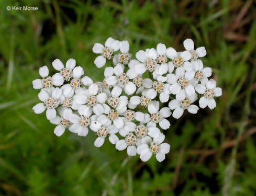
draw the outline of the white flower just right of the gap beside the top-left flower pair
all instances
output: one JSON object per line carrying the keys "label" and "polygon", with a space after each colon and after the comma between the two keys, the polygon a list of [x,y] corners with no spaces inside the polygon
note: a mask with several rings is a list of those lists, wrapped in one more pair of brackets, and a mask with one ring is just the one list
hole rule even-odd
{"label": "white flower just right of the gap beside the top-left flower pair", "polygon": [[157,50],[154,48],[147,49],[146,51],[140,50],[136,53],[136,58],[141,62],[135,65],[134,70],[137,74],[143,74],[147,70],[153,72],[157,65]]}

